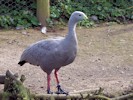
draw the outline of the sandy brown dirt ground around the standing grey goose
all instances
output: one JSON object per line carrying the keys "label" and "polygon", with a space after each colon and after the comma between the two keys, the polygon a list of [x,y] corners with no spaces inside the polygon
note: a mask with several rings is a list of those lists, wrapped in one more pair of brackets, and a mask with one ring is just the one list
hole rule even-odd
{"label": "sandy brown dirt ground around the standing grey goose", "polygon": [[[0,74],[11,70],[26,76],[25,86],[33,93],[46,93],[46,73],[38,66],[17,63],[31,43],[65,36],[67,29],[41,34],[39,30],[0,30]],[[62,87],[69,91],[95,90],[118,92],[133,84],[133,24],[77,28],[79,42],[76,60],[60,69]],[[52,73],[51,90],[56,91]],[[3,88],[0,85],[1,90]]]}

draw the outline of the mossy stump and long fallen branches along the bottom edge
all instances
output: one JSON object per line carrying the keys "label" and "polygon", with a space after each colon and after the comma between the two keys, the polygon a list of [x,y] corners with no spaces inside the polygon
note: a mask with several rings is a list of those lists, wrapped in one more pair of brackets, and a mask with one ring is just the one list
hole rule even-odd
{"label": "mossy stump and long fallen branches along the bottom edge", "polygon": [[[81,90],[65,94],[43,94],[35,95],[24,87],[25,76],[18,78],[17,74],[7,71],[6,75],[0,76],[0,82],[4,83],[4,92],[0,93],[0,100],[132,100],[133,93],[109,98],[102,95],[103,89]],[[4,80],[4,81],[3,81]]]}

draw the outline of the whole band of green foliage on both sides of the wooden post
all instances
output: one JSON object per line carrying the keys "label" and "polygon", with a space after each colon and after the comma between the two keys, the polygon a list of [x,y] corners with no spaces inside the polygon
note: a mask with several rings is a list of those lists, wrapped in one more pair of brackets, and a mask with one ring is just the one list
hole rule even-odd
{"label": "whole band of green foliage on both sides of the wooden post", "polygon": [[[0,27],[38,26],[36,2],[33,1],[1,0]],[[95,22],[124,23],[133,20],[133,0],[50,0],[51,14],[47,19],[48,26],[65,25],[75,10],[83,11],[90,18],[79,23],[85,27],[93,26]],[[95,16],[95,19],[92,16]]]}

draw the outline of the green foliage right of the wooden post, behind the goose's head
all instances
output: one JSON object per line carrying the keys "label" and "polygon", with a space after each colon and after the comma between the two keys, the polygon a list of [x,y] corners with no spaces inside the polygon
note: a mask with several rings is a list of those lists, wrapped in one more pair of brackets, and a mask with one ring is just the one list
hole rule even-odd
{"label": "green foliage right of the wooden post, behind the goose's head", "polygon": [[[49,22],[66,22],[73,11],[79,10],[88,17],[97,16],[98,22],[115,21],[123,23],[133,19],[133,0],[51,0]],[[80,26],[93,26],[94,20],[79,23]],[[58,24],[56,22],[56,24]]]}

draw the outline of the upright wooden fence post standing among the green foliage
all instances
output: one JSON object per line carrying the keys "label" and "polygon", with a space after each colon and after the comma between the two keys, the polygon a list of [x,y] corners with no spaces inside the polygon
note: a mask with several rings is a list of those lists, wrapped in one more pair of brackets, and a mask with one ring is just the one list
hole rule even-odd
{"label": "upright wooden fence post standing among the green foliage", "polygon": [[46,19],[50,15],[49,0],[37,0],[37,18],[42,26],[46,26]]}

